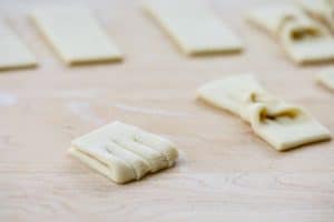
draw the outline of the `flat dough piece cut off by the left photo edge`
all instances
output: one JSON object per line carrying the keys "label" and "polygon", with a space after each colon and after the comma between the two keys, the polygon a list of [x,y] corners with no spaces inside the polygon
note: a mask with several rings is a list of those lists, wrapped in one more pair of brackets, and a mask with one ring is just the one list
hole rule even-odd
{"label": "flat dough piece cut off by the left photo edge", "polygon": [[0,23],[0,70],[36,65],[36,58],[18,36],[9,27]]}

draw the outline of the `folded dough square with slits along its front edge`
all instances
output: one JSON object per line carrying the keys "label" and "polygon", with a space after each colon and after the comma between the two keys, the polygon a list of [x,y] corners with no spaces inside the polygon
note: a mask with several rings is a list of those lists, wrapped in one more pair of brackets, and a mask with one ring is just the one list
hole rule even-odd
{"label": "folded dough square with slits along its front edge", "polygon": [[118,121],[73,140],[69,152],[116,183],[170,168],[178,158],[169,140]]}

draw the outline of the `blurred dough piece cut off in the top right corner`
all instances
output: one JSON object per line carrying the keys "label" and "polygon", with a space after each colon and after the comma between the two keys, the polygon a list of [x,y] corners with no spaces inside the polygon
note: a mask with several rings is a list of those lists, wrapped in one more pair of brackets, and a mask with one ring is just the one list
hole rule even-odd
{"label": "blurred dough piece cut off in the top right corner", "polygon": [[334,1],[298,0],[298,3],[311,17],[324,23],[334,33]]}

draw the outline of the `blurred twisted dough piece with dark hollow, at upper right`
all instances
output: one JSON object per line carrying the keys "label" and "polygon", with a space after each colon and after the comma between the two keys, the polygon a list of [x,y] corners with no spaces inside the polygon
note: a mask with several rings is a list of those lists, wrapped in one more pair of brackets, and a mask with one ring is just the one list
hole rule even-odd
{"label": "blurred twisted dough piece with dark hollow, at upper right", "polygon": [[265,6],[250,11],[247,18],[274,36],[297,63],[334,60],[331,32],[295,6]]}

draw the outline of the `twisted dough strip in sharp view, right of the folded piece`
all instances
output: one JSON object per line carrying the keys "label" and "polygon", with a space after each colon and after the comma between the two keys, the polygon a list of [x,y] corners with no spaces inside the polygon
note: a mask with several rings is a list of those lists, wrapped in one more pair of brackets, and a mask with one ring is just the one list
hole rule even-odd
{"label": "twisted dough strip in sharp view, right of the folded piece", "polygon": [[273,97],[249,73],[206,83],[197,97],[239,115],[278,151],[331,139],[328,130],[302,108]]}

